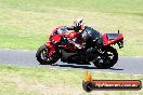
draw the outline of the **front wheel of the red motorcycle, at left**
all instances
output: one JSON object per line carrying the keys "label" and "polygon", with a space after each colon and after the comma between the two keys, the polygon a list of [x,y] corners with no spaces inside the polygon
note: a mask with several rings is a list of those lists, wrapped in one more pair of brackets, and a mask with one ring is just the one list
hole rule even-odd
{"label": "front wheel of the red motorcycle, at left", "polygon": [[52,65],[60,59],[60,54],[53,54],[51,57],[48,56],[49,49],[46,45],[41,45],[37,53],[36,57],[40,65]]}

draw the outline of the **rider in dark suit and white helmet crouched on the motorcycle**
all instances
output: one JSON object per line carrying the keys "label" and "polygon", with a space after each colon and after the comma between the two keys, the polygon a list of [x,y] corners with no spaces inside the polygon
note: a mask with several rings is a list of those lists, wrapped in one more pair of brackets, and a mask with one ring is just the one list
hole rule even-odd
{"label": "rider in dark suit and white helmet crouched on the motorcycle", "polygon": [[[67,27],[67,30],[74,30],[75,31],[75,36],[73,36],[73,40],[74,42],[79,40],[80,44],[75,43],[75,46],[77,49],[79,49],[79,51],[81,49],[89,49],[90,48],[90,42],[84,42],[83,40],[88,37],[87,35],[81,37],[82,32],[89,32],[90,35],[94,35],[95,36],[95,42],[96,42],[96,46],[101,48],[102,46],[102,39],[100,38],[100,32],[94,30],[93,28],[86,26],[83,18],[78,18],[76,22],[74,22],[74,26]],[[80,36],[79,36],[80,35]],[[70,36],[70,33],[69,33]],[[84,44],[87,44],[84,46]]]}

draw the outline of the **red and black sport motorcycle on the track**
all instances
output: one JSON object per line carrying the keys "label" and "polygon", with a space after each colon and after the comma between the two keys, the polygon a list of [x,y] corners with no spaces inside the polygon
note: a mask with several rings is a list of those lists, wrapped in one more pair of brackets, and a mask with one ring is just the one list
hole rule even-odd
{"label": "red and black sport motorcycle on the track", "polygon": [[[113,67],[118,60],[118,53],[112,45],[117,43],[119,49],[123,48],[123,36],[119,33],[119,30],[118,33],[101,35],[87,26],[80,32],[82,44],[84,44],[84,49],[80,51],[75,46],[76,43],[69,40],[73,33],[54,35],[57,31],[65,32],[66,27],[55,28],[49,40],[36,53],[37,60],[41,65],[53,65],[61,58],[65,63],[93,63],[99,69],[107,69]],[[63,41],[66,41],[66,44],[57,44]]]}

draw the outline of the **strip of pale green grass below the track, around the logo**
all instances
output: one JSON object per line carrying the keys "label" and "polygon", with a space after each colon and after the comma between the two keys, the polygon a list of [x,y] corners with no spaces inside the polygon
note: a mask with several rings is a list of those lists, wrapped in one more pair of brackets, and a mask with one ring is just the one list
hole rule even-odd
{"label": "strip of pale green grass below the track, around the logo", "polygon": [[[86,95],[82,80],[86,70],[49,69],[0,65],[0,95]],[[141,80],[143,76],[109,73],[90,70],[94,80]],[[93,91],[100,95],[142,95],[141,91]]]}

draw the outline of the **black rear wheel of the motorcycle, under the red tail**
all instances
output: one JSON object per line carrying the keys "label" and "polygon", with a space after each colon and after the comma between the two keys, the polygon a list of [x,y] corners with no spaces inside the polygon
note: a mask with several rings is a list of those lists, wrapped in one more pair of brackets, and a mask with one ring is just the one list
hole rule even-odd
{"label": "black rear wheel of the motorcycle, under the red tail", "polygon": [[117,63],[118,53],[113,46],[105,46],[102,51],[104,53],[100,56],[99,59],[95,59],[93,64],[96,66],[98,69],[108,69]]}

